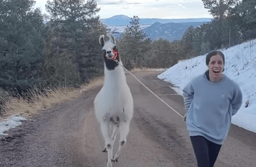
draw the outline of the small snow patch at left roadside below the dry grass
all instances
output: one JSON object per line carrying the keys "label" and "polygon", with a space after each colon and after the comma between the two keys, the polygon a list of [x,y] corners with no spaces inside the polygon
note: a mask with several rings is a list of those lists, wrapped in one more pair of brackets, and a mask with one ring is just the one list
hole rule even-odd
{"label": "small snow patch at left roadside below the dry grass", "polygon": [[0,137],[8,135],[3,132],[8,131],[11,128],[15,128],[16,126],[20,126],[22,123],[21,121],[23,120],[27,120],[27,119],[21,117],[19,114],[15,114],[8,117],[7,119],[1,120],[0,121]]}

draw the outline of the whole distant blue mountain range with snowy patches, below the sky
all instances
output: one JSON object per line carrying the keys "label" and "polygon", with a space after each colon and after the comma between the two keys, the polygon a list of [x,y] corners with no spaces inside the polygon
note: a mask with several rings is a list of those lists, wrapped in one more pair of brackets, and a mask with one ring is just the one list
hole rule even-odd
{"label": "whole distant blue mountain range with snowy patches, below the sky", "polygon": [[[159,38],[169,41],[179,40],[190,26],[198,27],[211,22],[211,18],[198,19],[140,19],[141,28],[152,40]],[[101,21],[111,29],[118,38],[124,29],[130,25],[131,18],[125,15],[117,15]]]}

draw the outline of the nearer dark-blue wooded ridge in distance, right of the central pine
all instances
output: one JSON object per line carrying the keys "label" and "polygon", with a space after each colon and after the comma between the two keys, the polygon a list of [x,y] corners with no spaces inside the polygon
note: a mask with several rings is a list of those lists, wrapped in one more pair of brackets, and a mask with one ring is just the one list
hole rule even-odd
{"label": "nearer dark-blue wooded ridge in distance, right of the central pine", "polygon": [[182,38],[184,32],[190,26],[194,28],[201,26],[207,22],[193,22],[193,23],[154,23],[152,26],[144,28],[143,31],[149,35],[153,41],[159,38],[167,39],[168,41],[179,40]]}

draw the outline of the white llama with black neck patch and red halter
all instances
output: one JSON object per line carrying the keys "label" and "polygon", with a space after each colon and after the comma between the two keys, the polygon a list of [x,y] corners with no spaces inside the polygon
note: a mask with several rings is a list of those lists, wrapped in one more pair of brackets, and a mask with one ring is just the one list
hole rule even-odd
{"label": "white llama with black neck patch and red halter", "polygon": [[[100,130],[105,140],[103,152],[108,154],[107,167],[117,162],[120,150],[125,146],[129,133],[129,123],[133,115],[133,99],[126,82],[122,61],[116,49],[116,39],[112,34],[100,35],[104,57],[104,83],[97,94],[94,107]],[[120,132],[119,148],[113,157],[113,146],[117,130]]]}

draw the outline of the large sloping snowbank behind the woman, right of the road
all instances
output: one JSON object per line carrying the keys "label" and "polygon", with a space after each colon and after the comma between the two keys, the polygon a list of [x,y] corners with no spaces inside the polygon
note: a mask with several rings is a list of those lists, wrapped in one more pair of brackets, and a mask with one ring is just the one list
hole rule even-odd
{"label": "large sloping snowbank behind the woman, right of the road", "polygon": [[[256,133],[256,39],[221,51],[225,56],[224,74],[238,83],[243,92],[242,107],[232,116],[232,123]],[[174,84],[174,90],[182,95],[185,85],[208,69],[205,57],[180,61],[158,78]],[[248,100],[249,106],[246,108]]]}

